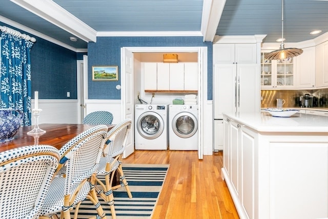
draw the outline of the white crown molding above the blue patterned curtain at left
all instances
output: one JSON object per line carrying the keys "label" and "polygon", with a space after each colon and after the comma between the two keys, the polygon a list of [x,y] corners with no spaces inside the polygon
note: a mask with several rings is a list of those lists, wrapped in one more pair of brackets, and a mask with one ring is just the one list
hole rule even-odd
{"label": "white crown molding above the blue patterned curtain at left", "polygon": [[[12,27],[15,27],[15,28],[17,28],[19,30],[23,30],[23,31],[25,31],[27,33],[30,33],[30,34],[34,35],[34,36],[43,38],[46,41],[49,41],[51,43],[54,43],[54,44],[56,44],[58,46],[61,46],[61,47],[66,48],[66,49],[72,50],[74,52],[87,52],[88,51],[87,49],[76,49],[76,48],[74,48],[72,46],[69,46],[69,45],[67,45],[67,44],[65,44],[63,42],[58,41],[57,39],[54,39],[54,38],[52,38],[52,37],[50,37],[48,35],[45,35],[43,33],[40,33],[40,32],[38,32],[36,30],[31,29],[31,28],[28,28],[28,27],[26,27],[24,25],[21,25],[21,24],[19,24],[17,22],[14,22],[11,19],[8,19],[8,18],[6,18],[4,16],[1,16],[1,15],[0,15],[0,22],[2,22],[4,24],[7,24],[7,25],[10,25]],[[79,51],[79,50],[84,50],[84,51]]]}

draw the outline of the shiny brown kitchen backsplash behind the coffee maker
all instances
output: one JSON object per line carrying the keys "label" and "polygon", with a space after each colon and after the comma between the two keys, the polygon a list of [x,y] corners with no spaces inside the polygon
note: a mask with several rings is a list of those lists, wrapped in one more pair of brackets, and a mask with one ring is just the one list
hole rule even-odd
{"label": "shiny brown kitchen backsplash behind the coffee maker", "polygon": [[283,107],[300,107],[299,96],[307,93],[316,97],[313,107],[328,108],[328,88],[318,90],[261,90],[261,108],[277,107],[277,98],[285,100]]}

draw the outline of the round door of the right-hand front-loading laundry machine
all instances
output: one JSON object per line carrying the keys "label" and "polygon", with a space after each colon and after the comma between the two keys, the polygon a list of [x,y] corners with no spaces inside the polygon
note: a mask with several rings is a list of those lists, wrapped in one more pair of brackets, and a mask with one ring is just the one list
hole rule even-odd
{"label": "round door of the right-hand front-loading laundry machine", "polygon": [[197,128],[197,118],[190,112],[180,112],[173,117],[172,129],[179,137],[191,137],[196,133]]}

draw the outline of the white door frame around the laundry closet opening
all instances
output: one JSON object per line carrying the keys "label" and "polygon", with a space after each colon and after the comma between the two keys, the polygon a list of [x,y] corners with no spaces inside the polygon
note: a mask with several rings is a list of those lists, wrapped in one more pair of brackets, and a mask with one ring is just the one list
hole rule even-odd
{"label": "white door frame around the laundry closet opening", "polygon": [[[199,130],[199,137],[198,137],[198,142],[199,142],[199,148],[198,148],[198,158],[202,159],[203,158],[203,118],[204,118],[204,106],[207,105],[207,75],[208,75],[208,69],[207,69],[207,63],[208,63],[208,48],[207,47],[122,47],[124,49],[129,50],[132,53],[141,53],[141,52],[197,52],[198,53],[198,78],[199,80],[199,86],[198,86],[198,107],[199,107],[199,116],[198,116],[198,128]],[[125,59],[122,57],[121,54],[121,61],[125,62]],[[121,67],[125,66],[125,63],[121,63]],[[123,72],[123,71],[121,71]],[[134,75],[133,75],[134,76]],[[127,89],[126,86],[124,85],[124,82],[122,82],[121,85],[121,105],[124,106],[124,100],[122,97],[123,94],[126,92]],[[124,111],[124,109],[122,109]],[[122,114],[124,116],[124,114]],[[122,118],[124,119],[124,118]],[[132,118],[134,120],[134,118]],[[212,122],[212,121],[211,121]]]}

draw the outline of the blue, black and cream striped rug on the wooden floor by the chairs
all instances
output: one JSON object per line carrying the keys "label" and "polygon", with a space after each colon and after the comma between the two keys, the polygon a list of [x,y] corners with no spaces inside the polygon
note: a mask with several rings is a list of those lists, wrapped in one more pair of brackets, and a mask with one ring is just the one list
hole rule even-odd
{"label": "blue, black and cream striped rug on the wooden floor by the chairs", "polygon": [[[128,193],[124,187],[113,191],[116,218],[151,218],[169,165],[122,164],[122,167],[133,197],[128,197]],[[100,197],[99,201],[101,207],[106,212],[107,218],[112,218],[109,205]],[[73,214],[73,211],[71,214]],[[92,203],[86,200],[80,205],[78,218],[89,218],[96,214]]]}

